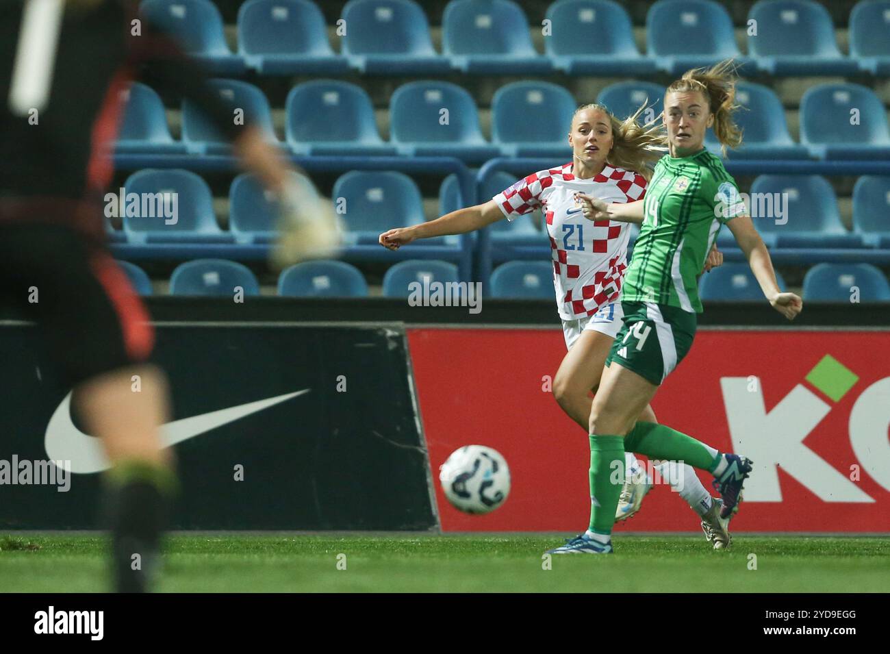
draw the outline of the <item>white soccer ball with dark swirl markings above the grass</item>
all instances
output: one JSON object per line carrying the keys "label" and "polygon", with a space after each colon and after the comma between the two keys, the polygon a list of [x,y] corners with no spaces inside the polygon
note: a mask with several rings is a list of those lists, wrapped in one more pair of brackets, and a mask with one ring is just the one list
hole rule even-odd
{"label": "white soccer ball with dark swirl markings above the grass", "polygon": [[510,469],[496,449],[467,445],[439,468],[445,497],[464,513],[489,513],[510,494]]}

